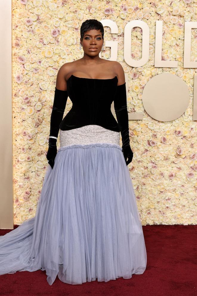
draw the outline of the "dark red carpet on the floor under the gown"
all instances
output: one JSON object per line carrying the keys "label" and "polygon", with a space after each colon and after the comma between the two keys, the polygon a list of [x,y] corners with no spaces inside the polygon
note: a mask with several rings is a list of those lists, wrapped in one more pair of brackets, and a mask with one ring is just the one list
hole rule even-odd
{"label": "dark red carpet on the floor under the gown", "polygon": [[[197,225],[142,226],[147,250],[147,268],[131,279],[62,283],[58,277],[52,286],[45,271],[0,275],[0,295],[14,296],[196,296]],[[10,230],[0,230],[4,235]]]}

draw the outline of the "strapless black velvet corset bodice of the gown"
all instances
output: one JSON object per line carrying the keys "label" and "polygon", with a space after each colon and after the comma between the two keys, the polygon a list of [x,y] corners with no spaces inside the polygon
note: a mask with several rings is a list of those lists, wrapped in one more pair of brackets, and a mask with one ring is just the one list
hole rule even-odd
{"label": "strapless black velvet corset bodice of the gown", "polygon": [[120,126],[111,113],[117,83],[117,76],[96,79],[71,75],[67,81],[67,92],[72,108],[61,121],[59,128],[69,130],[95,124],[120,132]]}

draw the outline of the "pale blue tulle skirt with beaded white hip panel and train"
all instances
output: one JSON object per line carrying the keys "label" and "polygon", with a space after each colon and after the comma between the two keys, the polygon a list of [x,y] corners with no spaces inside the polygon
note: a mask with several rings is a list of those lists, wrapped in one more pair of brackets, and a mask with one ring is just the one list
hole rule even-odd
{"label": "pale blue tulle skirt with beaded white hip panel and train", "polygon": [[46,270],[49,285],[129,279],[147,256],[120,133],[97,125],[60,130],[35,217],[0,237],[0,275]]}

